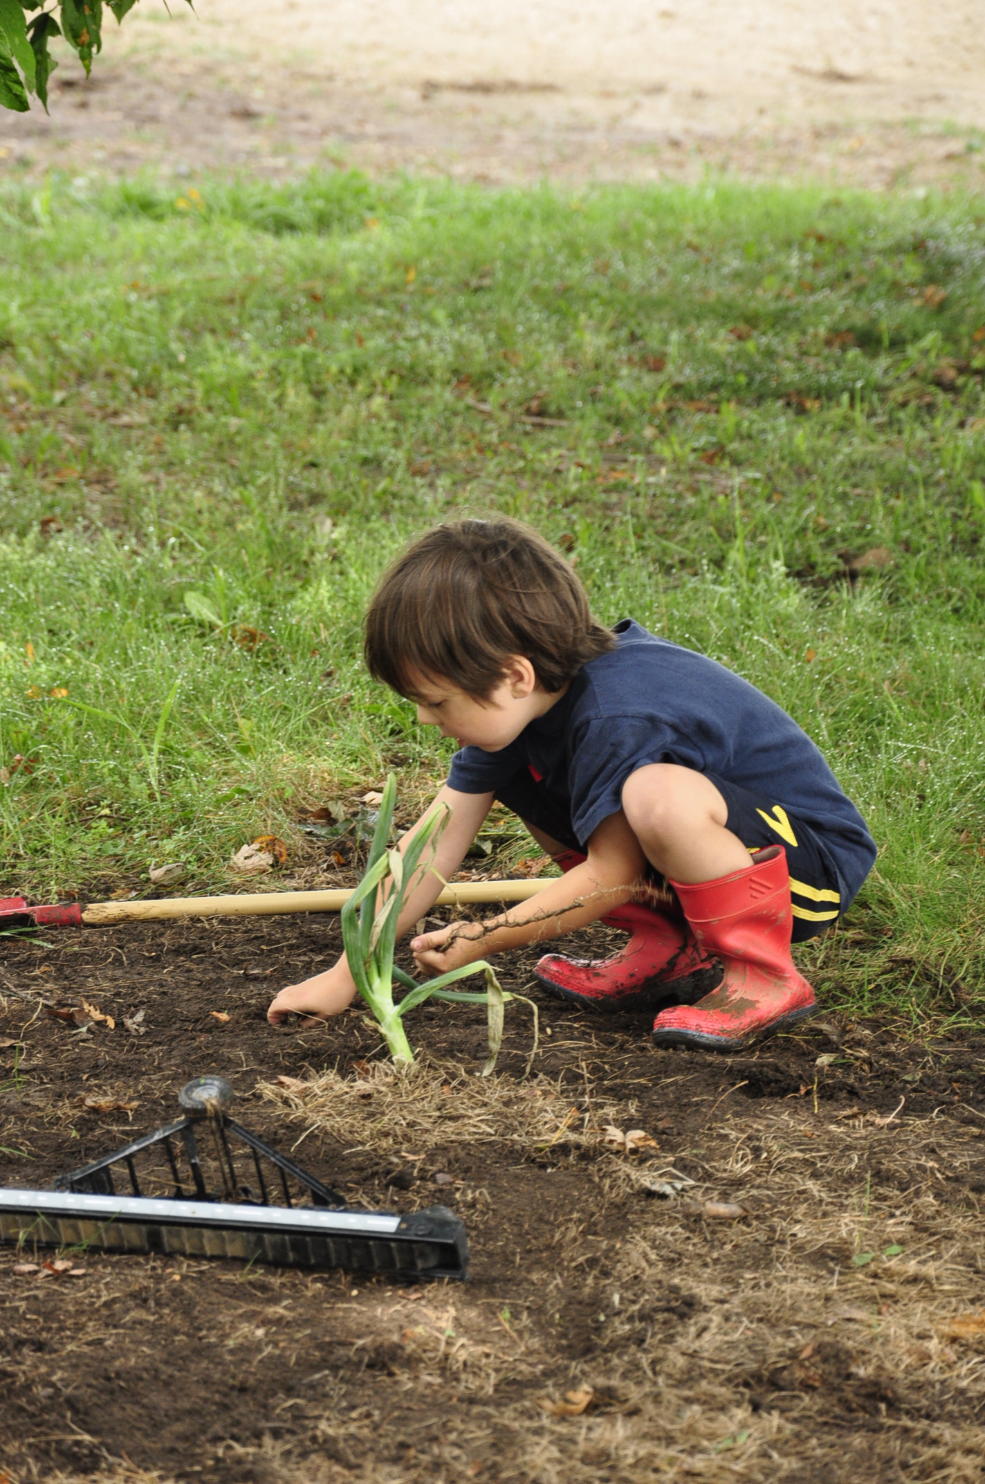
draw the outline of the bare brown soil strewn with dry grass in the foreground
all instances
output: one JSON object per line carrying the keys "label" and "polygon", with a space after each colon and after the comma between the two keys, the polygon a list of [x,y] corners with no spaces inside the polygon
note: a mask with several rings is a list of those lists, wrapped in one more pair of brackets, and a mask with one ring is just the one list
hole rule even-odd
{"label": "bare brown soil strewn with dry grass in the foreground", "polygon": [[[472,1273],[88,1252],[83,1276],[39,1278],[0,1250],[12,1484],[982,1480],[984,1040],[822,1017],[740,1057],[657,1051],[645,1021],[531,990],[515,954],[530,1070],[527,1006],[482,1079],[484,1011],[433,1005],[402,1079],[358,1012],[266,1024],[338,951],[334,917],[45,942],[3,941],[3,1183],[49,1184],[217,1071],[353,1204],[458,1211]],[[116,1027],[46,1012],[83,999]],[[626,1155],[608,1126],[654,1143]]]}

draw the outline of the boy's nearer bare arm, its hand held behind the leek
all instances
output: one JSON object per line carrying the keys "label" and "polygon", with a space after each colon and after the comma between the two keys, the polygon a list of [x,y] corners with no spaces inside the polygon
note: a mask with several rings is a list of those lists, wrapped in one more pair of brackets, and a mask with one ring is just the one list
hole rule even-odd
{"label": "boy's nearer bare arm, its hand held behind the leek", "polygon": [[441,974],[506,948],[574,932],[629,901],[645,868],[639,841],[620,810],[593,831],[583,865],[490,922],[452,923],[414,938],[414,957],[420,968]]}

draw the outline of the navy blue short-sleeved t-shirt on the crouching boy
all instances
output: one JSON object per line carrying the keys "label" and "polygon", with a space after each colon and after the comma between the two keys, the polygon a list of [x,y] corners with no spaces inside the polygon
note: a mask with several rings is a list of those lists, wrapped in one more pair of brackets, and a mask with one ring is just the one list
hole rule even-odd
{"label": "navy blue short-sleeved t-shirt on the crouching boy", "polygon": [[623,784],[647,763],[679,763],[768,797],[816,833],[841,911],[875,861],[862,815],[807,733],[749,681],[632,619],[616,649],[589,660],[561,700],[509,746],[461,748],[448,787],[495,794],[573,849],[622,809]]}

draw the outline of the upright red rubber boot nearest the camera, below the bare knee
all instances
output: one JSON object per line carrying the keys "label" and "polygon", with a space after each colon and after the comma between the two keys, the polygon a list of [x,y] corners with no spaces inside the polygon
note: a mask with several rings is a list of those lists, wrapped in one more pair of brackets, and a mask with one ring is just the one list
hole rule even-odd
{"label": "upright red rubber boot nearest the camera, below the bare knee", "polygon": [[742,1051],[761,1036],[795,1025],[817,1008],[791,959],[791,879],[783,846],[757,850],[752,865],[678,893],[700,950],[721,960],[724,976],[697,1005],[662,1011],[659,1046]]}

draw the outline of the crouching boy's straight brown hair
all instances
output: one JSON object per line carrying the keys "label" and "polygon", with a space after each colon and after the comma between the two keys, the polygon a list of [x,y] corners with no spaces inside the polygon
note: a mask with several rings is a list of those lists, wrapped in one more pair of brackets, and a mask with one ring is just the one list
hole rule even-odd
{"label": "crouching boy's straight brown hair", "polygon": [[524,654],[553,693],[613,644],[564,556],[497,516],[436,525],[398,556],[366,611],[363,656],[374,680],[402,696],[433,678],[485,700],[510,654]]}

